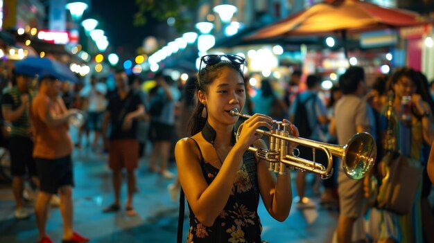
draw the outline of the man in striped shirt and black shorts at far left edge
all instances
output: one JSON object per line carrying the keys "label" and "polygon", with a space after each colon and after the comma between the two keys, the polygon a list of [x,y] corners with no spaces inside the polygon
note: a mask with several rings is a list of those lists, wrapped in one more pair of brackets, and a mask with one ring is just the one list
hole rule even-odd
{"label": "man in striped shirt and black shorts at far left edge", "polygon": [[1,111],[6,122],[12,127],[8,134],[9,153],[12,174],[12,191],[15,197],[14,215],[17,219],[28,217],[23,205],[24,181],[26,175],[39,186],[35,161],[33,160],[32,129],[28,110],[30,109],[32,95],[29,91],[33,77],[21,73],[14,73],[12,89],[9,89],[1,98]]}

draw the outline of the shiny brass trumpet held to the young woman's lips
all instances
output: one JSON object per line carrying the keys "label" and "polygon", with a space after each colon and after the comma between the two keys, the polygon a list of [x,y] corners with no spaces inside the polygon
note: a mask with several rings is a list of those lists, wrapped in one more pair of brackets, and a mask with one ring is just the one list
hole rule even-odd
{"label": "shiny brass trumpet held to the young woman's lips", "polygon": [[[230,111],[232,116],[250,118],[251,116],[241,114],[238,108]],[[269,170],[274,170],[279,174],[286,174],[287,168],[290,170],[302,170],[319,174],[322,179],[327,179],[333,174],[333,155],[342,159],[342,168],[350,179],[362,179],[365,177],[375,163],[376,144],[371,134],[367,132],[357,133],[352,136],[346,145],[333,145],[312,141],[307,138],[300,138],[290,135],[289,124],[281,121],[272,121],[270,132],[257,129],[256,132],[265,136],[270,136],[269,150],[257,147],[249,147],[249,151],[254,152],[259,158],[269,162]],[[243,129],[243,123],[236,131],[236,141]],[[288,154],[289,142],[298,143],[307,147],[312,147],[312,152],[322,150],[327,156],[327,168],[321,163],[302,159],[299,154]],[[315,158],[315,156],[313,156]]]}

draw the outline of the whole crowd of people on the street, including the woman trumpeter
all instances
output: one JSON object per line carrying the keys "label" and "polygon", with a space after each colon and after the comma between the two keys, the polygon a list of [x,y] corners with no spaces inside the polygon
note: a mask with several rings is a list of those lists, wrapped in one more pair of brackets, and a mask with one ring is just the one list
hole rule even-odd
{"label": "whole crowd of people on the street, including the woman trumpeter", "polygon": [[[350,66],[332,89],[324,91],[319,75],[295,70],[281,92],[275,88],[279,82],[268,78],[259,82],[259,88],[250,87],[243,57],[206,55],[201,61],[199,72],[185,84],[175,82],[165,71],[154,73],[155,87],[150,90],[143,89],[141,76],[128,76],[123,69],[113,73],[114,89],[108,88],[107,78],[96,76],[82,85],[45,75],[35,85],[34,77],[12,73],[8,87],[2,87],[2,119],[10,125],[8,143],[3,146],[8,147],[12,162],[17,219],[28,217],[22,197],[26,179],[39,191],[35,201],[38,242],[51,242],[45,226],[56,195],[64,223],[63,242],[89,240],[73,231],[72,213],[71,154],[74,147],[87,146],[108,154],[114,201],[103,213],[124,207],[128,217],[137,215],[133,204],[136,170],[146,156],[149,172],[173,180],[168,192],[174,201],[182,188],[190,209],[187,242],[261,242],[259,199],[280,222],[288,217],[293,202],[298,210],[338,209],[338,242],[434,242],[433,206],[428,201],[434,183],[434,89],[423,73],[403,67],[390,76],[379,75],[368,86],[363,68]],[[251,89],[257,91],[254,96]],[[402,105],[404,98],[410,109]],[[252,116],[233,116],[234,108]],[[78,137],[71,139],[69,123],[77,114],[85,116],[85,123]],[[291,173],[286,165],[280,165],[277,174],[270,172],[268,162],[248,150],[268,147],[264,141],[270,138],[257,129],[269,129],[275,119],[286,124],[289,134],[322,143],[345,145],[354,134],[369,132],[376,141],[377,162],[393,143],[394,150],[425,168],[412,192],[413,209],[399,214],[368,205],[367,185],[381,174],[381,168],[374,165],[367,177],[353,180],[337,157],[333,157],[332,177],[313,181],[320,201],[315,204],[306,197],[306,187],[311,186],[307,172]],[[243,129],[236,140],[241,120]],[[386,136],[390,124],[397,131],[392,138]],[[324,152],[313,154],[311,147],[288,143],[288,153],[293,150],[303,159],[327,161]],[[177,174],[170,169],[171,159],[176,161]],[[124,206],[123,170],[128,188]],[[295,177],[295,192],[291,177]]]}

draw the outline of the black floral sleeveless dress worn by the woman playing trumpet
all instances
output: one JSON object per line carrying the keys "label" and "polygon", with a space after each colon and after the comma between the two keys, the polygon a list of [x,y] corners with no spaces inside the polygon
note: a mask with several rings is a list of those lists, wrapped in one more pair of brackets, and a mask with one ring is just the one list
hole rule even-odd
{"label": "black floral sleeveless dress worn by the woman playing trumpet", "polygon": [[[215,130],[208,123],[202,130],[202,136],[209,143],[214,142]],[[193,138],[192,138],[193,139]],[[198,145],[198,143],[193,139]],[[234,142],[234,138],[233,138]],[[200,147],[198,146],[199,151]],[[204,161],[200,151],[203,176],[211,184],[219,170]],[[254,186],[253,186],[254,185]],[[225,208],[218,215],[211,227],[200,224],[199,220],[190,210],[190,228],[187,242],[261,242],[261,220],[257,212],[259,203],[259,190],[257,184],[257,164],[252,152],[243,154],[243,165],[236,173],[231,195]]]}

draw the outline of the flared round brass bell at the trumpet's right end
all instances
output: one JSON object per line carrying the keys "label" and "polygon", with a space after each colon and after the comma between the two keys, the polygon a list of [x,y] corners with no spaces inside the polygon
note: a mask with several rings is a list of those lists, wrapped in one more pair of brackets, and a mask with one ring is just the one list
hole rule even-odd
{"label": "flared round brass bell at the trumpet's right end", "polygon": [[362,179],[374,166],[375,158],[374,138],[365,132],[355,134],[344,146],[342,167],[350,179]]}

